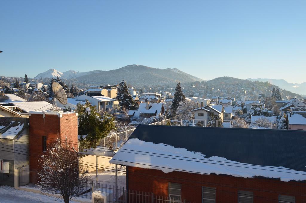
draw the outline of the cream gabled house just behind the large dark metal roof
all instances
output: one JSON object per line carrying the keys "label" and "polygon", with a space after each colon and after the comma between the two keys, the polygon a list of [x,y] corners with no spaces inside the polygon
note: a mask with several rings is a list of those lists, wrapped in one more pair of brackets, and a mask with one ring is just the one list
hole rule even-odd
{"label": "cream gabled house just behind the large dark metal roof", "polygon": [[195,123],[207,124],[204,120],[211,120],[212,115],[218,115],[223,121],[224,107],[222,105],[206,105],[192,110],[194,112]]}

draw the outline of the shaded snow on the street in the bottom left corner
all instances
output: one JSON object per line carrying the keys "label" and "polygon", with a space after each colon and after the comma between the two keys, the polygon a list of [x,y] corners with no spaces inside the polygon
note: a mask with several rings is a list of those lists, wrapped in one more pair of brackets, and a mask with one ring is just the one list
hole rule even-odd
{"label": "shaded snow on the street in the bottom left corner", "polygon": [[[31,203],[54,203],[58,198],[48,197],[41,193],[28,192],[24,190],[17,190],[9,186],[0,186],[0,203],[16,203],[16,202],[31,202]],[[63,199],[59,199],[57,202],[64,202]],[[76,202],[76,201],[71,201]]]}

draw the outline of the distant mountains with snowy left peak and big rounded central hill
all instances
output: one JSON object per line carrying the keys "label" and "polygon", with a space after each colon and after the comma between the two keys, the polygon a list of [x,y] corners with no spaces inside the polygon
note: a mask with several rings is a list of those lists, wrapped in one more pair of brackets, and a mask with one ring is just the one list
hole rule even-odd
{"label": "distant mountains with snowy left peak and big rounded central hill", "polygon": [[200,78],[189,75],[177,68],[152,68],[142,65],[128,65],[111,71],[89,71],[59,72],[55,69],[49,69],[46,72],[38,74],[35,79],[45,78],[75,79],[78,82],[87,84],[115,84],[125,80],[133,85],[167,85],[180,82],[203,81]]}

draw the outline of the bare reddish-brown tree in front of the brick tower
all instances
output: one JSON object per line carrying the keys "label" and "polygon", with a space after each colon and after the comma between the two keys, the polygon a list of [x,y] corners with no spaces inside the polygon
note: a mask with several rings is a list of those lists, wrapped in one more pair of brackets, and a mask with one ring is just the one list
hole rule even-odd
{"label": "bare reddish-brown tree in front of the brick tower", "polygon": [[56,140],[47,147],[39,163],[39,186],[46,195],[63,197],[65,203],[77,197],[88,184],[89,176],[79,162],[79,155],[73,151],[69,141]]}

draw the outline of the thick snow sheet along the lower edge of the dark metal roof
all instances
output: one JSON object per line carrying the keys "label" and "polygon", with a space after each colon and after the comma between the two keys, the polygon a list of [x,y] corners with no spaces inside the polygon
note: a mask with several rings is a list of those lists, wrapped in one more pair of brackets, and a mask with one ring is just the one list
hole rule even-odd
{"label": "thick snow sheet along the lower edge of the dark metal roof", "polygon": [[[128,153],[129,150],[143,152]],[[162,156],[153,156],[154,154],[152,153],[155,155],[162,154]],[[179,159],[173,159],[173,157],[179,157]],[[194,160],[197,160],[197,162]],[[304,180],[306,175],[306,171],[285,173],[288,172],[288,168],[285,167],[273,167],[272,171],[267,170],[267,167],[270,166],[239,163],[218,156],[205,158],[205,155],[200,152],[192,152],[184,148],[175,148],[162,143],[154,144],[152,142],[141,141],[137,138],[127,140],[109,162],[125,166],[162,170],[164,173],[185,171],[197,174],[227,174],[244,178],[263,176],[280,178],[281,181]],[[290,171],[293,172],[292,170]]]}

